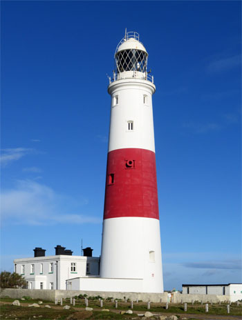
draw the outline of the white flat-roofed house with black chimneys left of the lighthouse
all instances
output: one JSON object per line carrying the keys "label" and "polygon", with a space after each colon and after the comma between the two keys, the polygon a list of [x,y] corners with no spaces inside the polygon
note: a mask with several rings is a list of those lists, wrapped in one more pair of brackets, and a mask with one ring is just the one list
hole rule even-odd
{"label": "white flat-roofed house with black chimneys left of the lighthouse", "polygon": [[75,277],[97,277],[100,273],[100,257],[92,257],[90,247],[83,256],[73,256],[71,250],[55,247],[55,255],[46,256],[46,250],[34,249],[34,257],[15,259],[15,272],[27,281],[28,289],[66,290],[67,279]]}

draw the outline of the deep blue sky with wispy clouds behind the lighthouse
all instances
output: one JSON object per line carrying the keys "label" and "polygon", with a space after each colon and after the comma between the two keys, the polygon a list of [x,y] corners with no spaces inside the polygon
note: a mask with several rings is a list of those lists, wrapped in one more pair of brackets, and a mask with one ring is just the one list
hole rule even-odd
{"label": "deep blue sky with wispy clouds behind the lighthouse", "polygon": [[241,282],[239,1],[1,1],[1,270],[35,246],[100,255],[125,28],[156,84],[165,289]]}

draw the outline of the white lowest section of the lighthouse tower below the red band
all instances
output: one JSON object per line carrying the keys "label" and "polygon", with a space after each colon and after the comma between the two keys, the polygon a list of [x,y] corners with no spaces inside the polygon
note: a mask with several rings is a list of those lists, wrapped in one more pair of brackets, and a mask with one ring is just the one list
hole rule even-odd
{"label": "white lowest section of the lighthouse tower below the red band", "polygon": [[[115,245],[111,241],[114,237]],[[141,217],[105,219],[100,278],[140,279],[133,281],[133,292],[163,292],[160,221]]]}

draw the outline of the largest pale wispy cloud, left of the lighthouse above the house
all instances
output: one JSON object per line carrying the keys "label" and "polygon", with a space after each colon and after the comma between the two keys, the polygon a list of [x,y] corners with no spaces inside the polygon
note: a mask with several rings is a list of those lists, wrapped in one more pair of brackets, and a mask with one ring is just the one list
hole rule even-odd
{"label": "largest pale wispy cloud, left of the lighthouse above the house", "polygon": [[[79,203],[83,206],[86,200]],[[72,199],[57,194],[52,188],[37,181],[17,181],[17,186],[3,190],[1,212],[3,222],[28,225],[55,223],[100,223],[101,219],[85,214],[66,212],[66,203],[72,206]]]}

